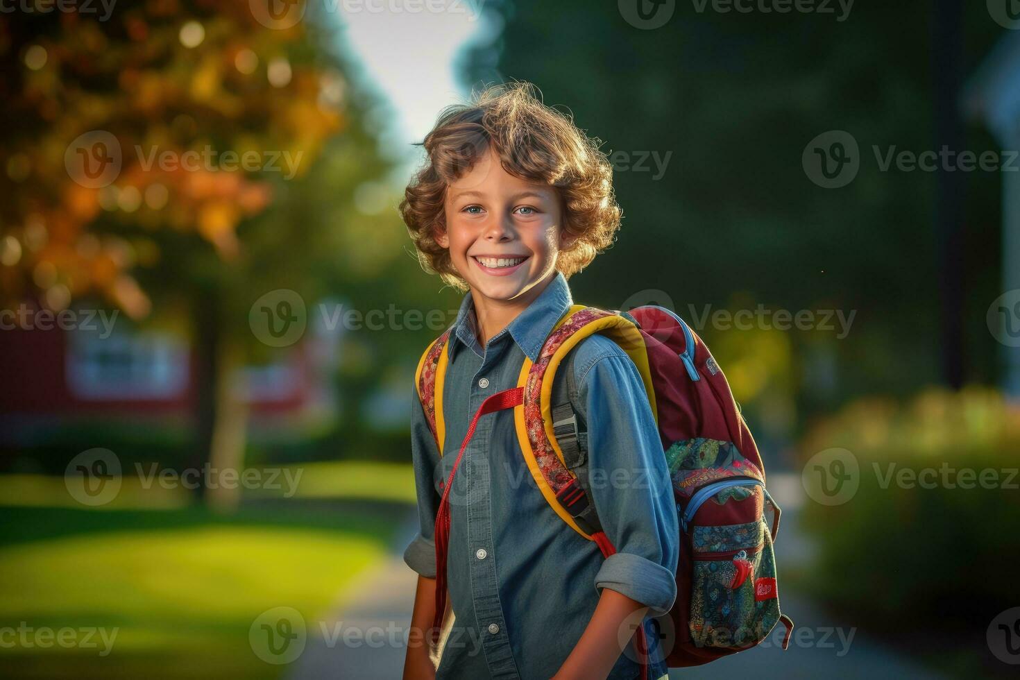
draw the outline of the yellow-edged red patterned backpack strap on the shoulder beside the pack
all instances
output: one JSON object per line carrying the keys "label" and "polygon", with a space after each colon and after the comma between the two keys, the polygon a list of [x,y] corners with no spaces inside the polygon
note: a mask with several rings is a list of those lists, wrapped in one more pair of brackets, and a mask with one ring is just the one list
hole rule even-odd
{"label": "yellow-edged red patterned backpack strap on the shoulder beside the pack", "polygon": [[537,362],[524,358],[517,379],[517,385],[524,388],[524,403],[514,409],[517,438],[539,490],[556,514],[589,540],[597,540],[595,534],[584,531],[575,521],[579,514],[575,506],[586,503],[586,496],[576,476],[566,467],[563,451],[553,433],[552,396],[553,379],[563,358],[596,332],[610,336],[634,362],[658,424],[648,351],[638,325],[617,312],[583,305],[574,305],[560,319],[543,345]]}

